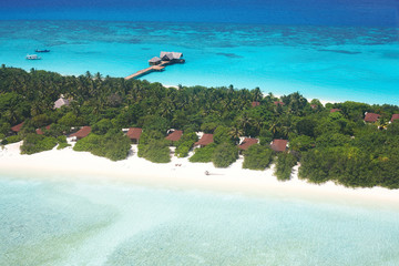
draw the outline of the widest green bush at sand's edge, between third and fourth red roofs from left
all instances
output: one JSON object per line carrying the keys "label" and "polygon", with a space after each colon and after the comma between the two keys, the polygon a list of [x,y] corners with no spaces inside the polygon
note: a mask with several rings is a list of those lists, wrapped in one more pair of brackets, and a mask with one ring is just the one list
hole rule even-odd
{"label": "widest green bush at sand's edge, between third and fourth red roofs from left", "polygon": [[112,161],[124,160],[131,149],[130,140],[122,132],[112,132],[105,135],[89,134],[73,146],[78,152],[91,152],[96,156],[108,157]]}

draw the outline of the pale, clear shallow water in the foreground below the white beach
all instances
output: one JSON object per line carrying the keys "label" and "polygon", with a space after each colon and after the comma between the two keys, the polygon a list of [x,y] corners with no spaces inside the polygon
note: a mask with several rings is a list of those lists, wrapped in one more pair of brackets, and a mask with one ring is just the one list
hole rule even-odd
{"label": "pale, clear shallow water in the foreground below the white beach", "polygon": [[0,178],[0,265],[397,265],[399,212]]}

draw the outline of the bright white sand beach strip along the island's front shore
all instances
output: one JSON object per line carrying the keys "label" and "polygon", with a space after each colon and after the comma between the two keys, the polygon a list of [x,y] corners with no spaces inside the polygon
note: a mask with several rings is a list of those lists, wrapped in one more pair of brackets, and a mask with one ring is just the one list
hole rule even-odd
{"label": "bright white sand beach strip along the island's front shore", "polygon": [[[298,180],[297,167],[293,178],[279,182],[273,167],[266,171],[243,170],[241,157],[228,168],[215,168],[212,163],[190,163],[187,158],[172,157],[167,164],[154,164],[136,154],[136,146],[126,160],[112,162],[72,147],[52,150],[34,155],[21,155],[20,143],[0,150],[0,173],[23,178],[84,178],[93,182],[131,182],[137,185],[174,190],[217,191],[253,196],[274,195],[311,201],[334,201],[342,204],[399,206],[399,190],[348,188],[332,182],[317,185]],[[205,175],[205,172],[209,175]]]}

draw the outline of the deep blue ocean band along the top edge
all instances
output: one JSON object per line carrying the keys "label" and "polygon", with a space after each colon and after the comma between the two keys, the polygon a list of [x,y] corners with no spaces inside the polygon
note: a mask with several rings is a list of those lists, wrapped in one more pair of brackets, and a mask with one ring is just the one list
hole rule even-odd
{"label": "deep blue ocean band along the top edge", "polygon": [[398,0],[1,0],[0,19],[397,27]]}

